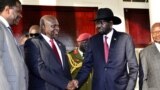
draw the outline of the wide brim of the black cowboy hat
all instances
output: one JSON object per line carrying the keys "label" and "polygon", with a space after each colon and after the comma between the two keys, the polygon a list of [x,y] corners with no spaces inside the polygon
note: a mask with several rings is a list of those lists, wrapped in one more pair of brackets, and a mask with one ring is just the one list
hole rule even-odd
{"label": "wide brim of the black cowboy hat", "polygon": [[119,17],[107,17],[107,18],[96,18],[93,21],[98,21],[98,20],[106,20],[106,21],[113,21],[114,25],[120,24],[122,21]]}

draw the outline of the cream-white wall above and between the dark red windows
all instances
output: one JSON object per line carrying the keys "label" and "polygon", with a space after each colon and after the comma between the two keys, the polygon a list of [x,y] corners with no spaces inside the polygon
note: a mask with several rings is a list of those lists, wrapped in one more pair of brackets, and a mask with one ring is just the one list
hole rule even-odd
{"label": "cream-white wall above and between the dark red windows", "polygon": [[123,2],[123,0],[20,0],[23,5],[44,5],[44,6],[81,6],[81,7],[108,7],[111,8],[115,16],[122,19],[120,25],[114,28],[125,32],[124,8],[148,8],[146,2]]}

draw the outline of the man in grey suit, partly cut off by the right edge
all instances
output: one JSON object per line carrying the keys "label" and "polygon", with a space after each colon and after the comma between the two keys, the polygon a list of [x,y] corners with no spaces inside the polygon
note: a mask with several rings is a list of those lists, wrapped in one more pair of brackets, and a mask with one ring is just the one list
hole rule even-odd
{"label": "man in grey suit, partly cut off by the right edge", "polygon": [[153,43],[140,52],[139,90],[160,90],[160,22],[152,25]]}

